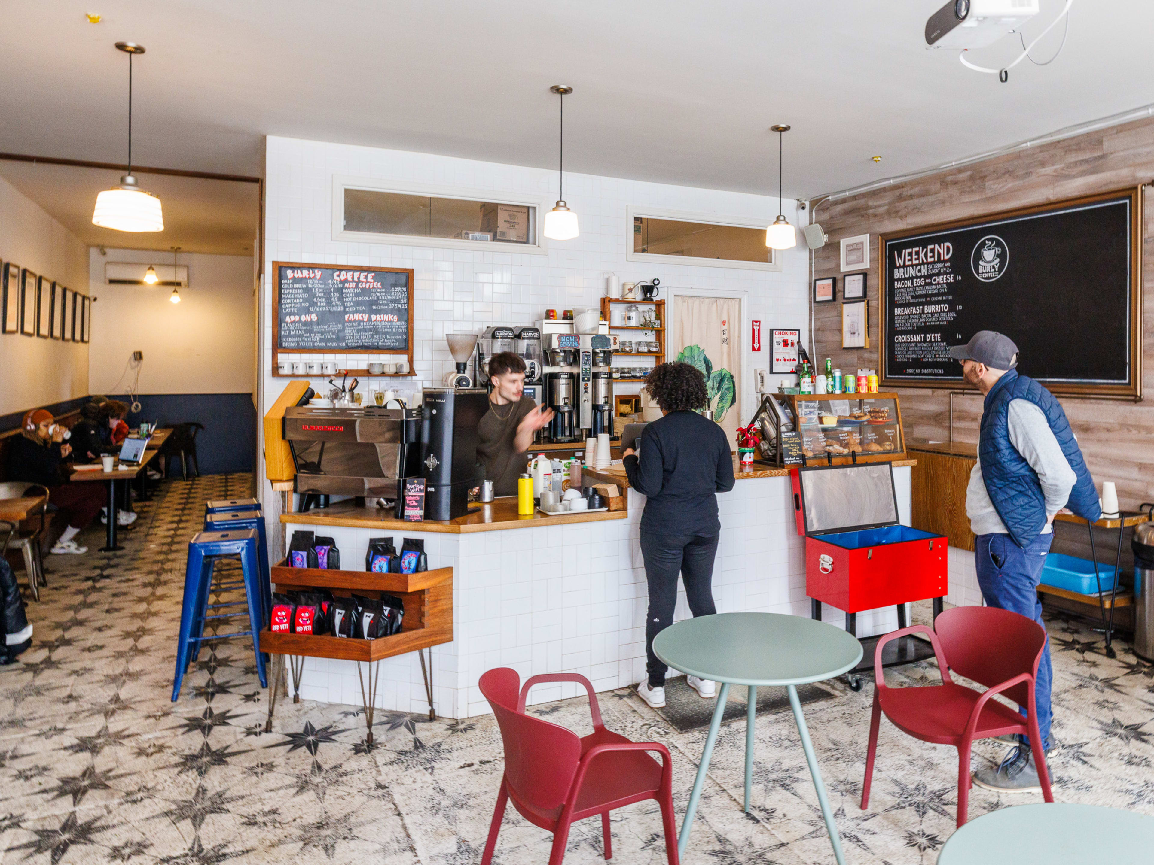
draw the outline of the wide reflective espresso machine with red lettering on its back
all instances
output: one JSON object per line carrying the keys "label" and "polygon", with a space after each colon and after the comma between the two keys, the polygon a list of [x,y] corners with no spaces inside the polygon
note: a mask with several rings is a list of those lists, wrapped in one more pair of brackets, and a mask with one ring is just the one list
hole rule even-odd
{"label": "wide reflective espresso machine with red lettering on its back", "polygon": [[420,408],[291,406],[282,423],[305,496],[392,498],[398,477],[420,474]]}

